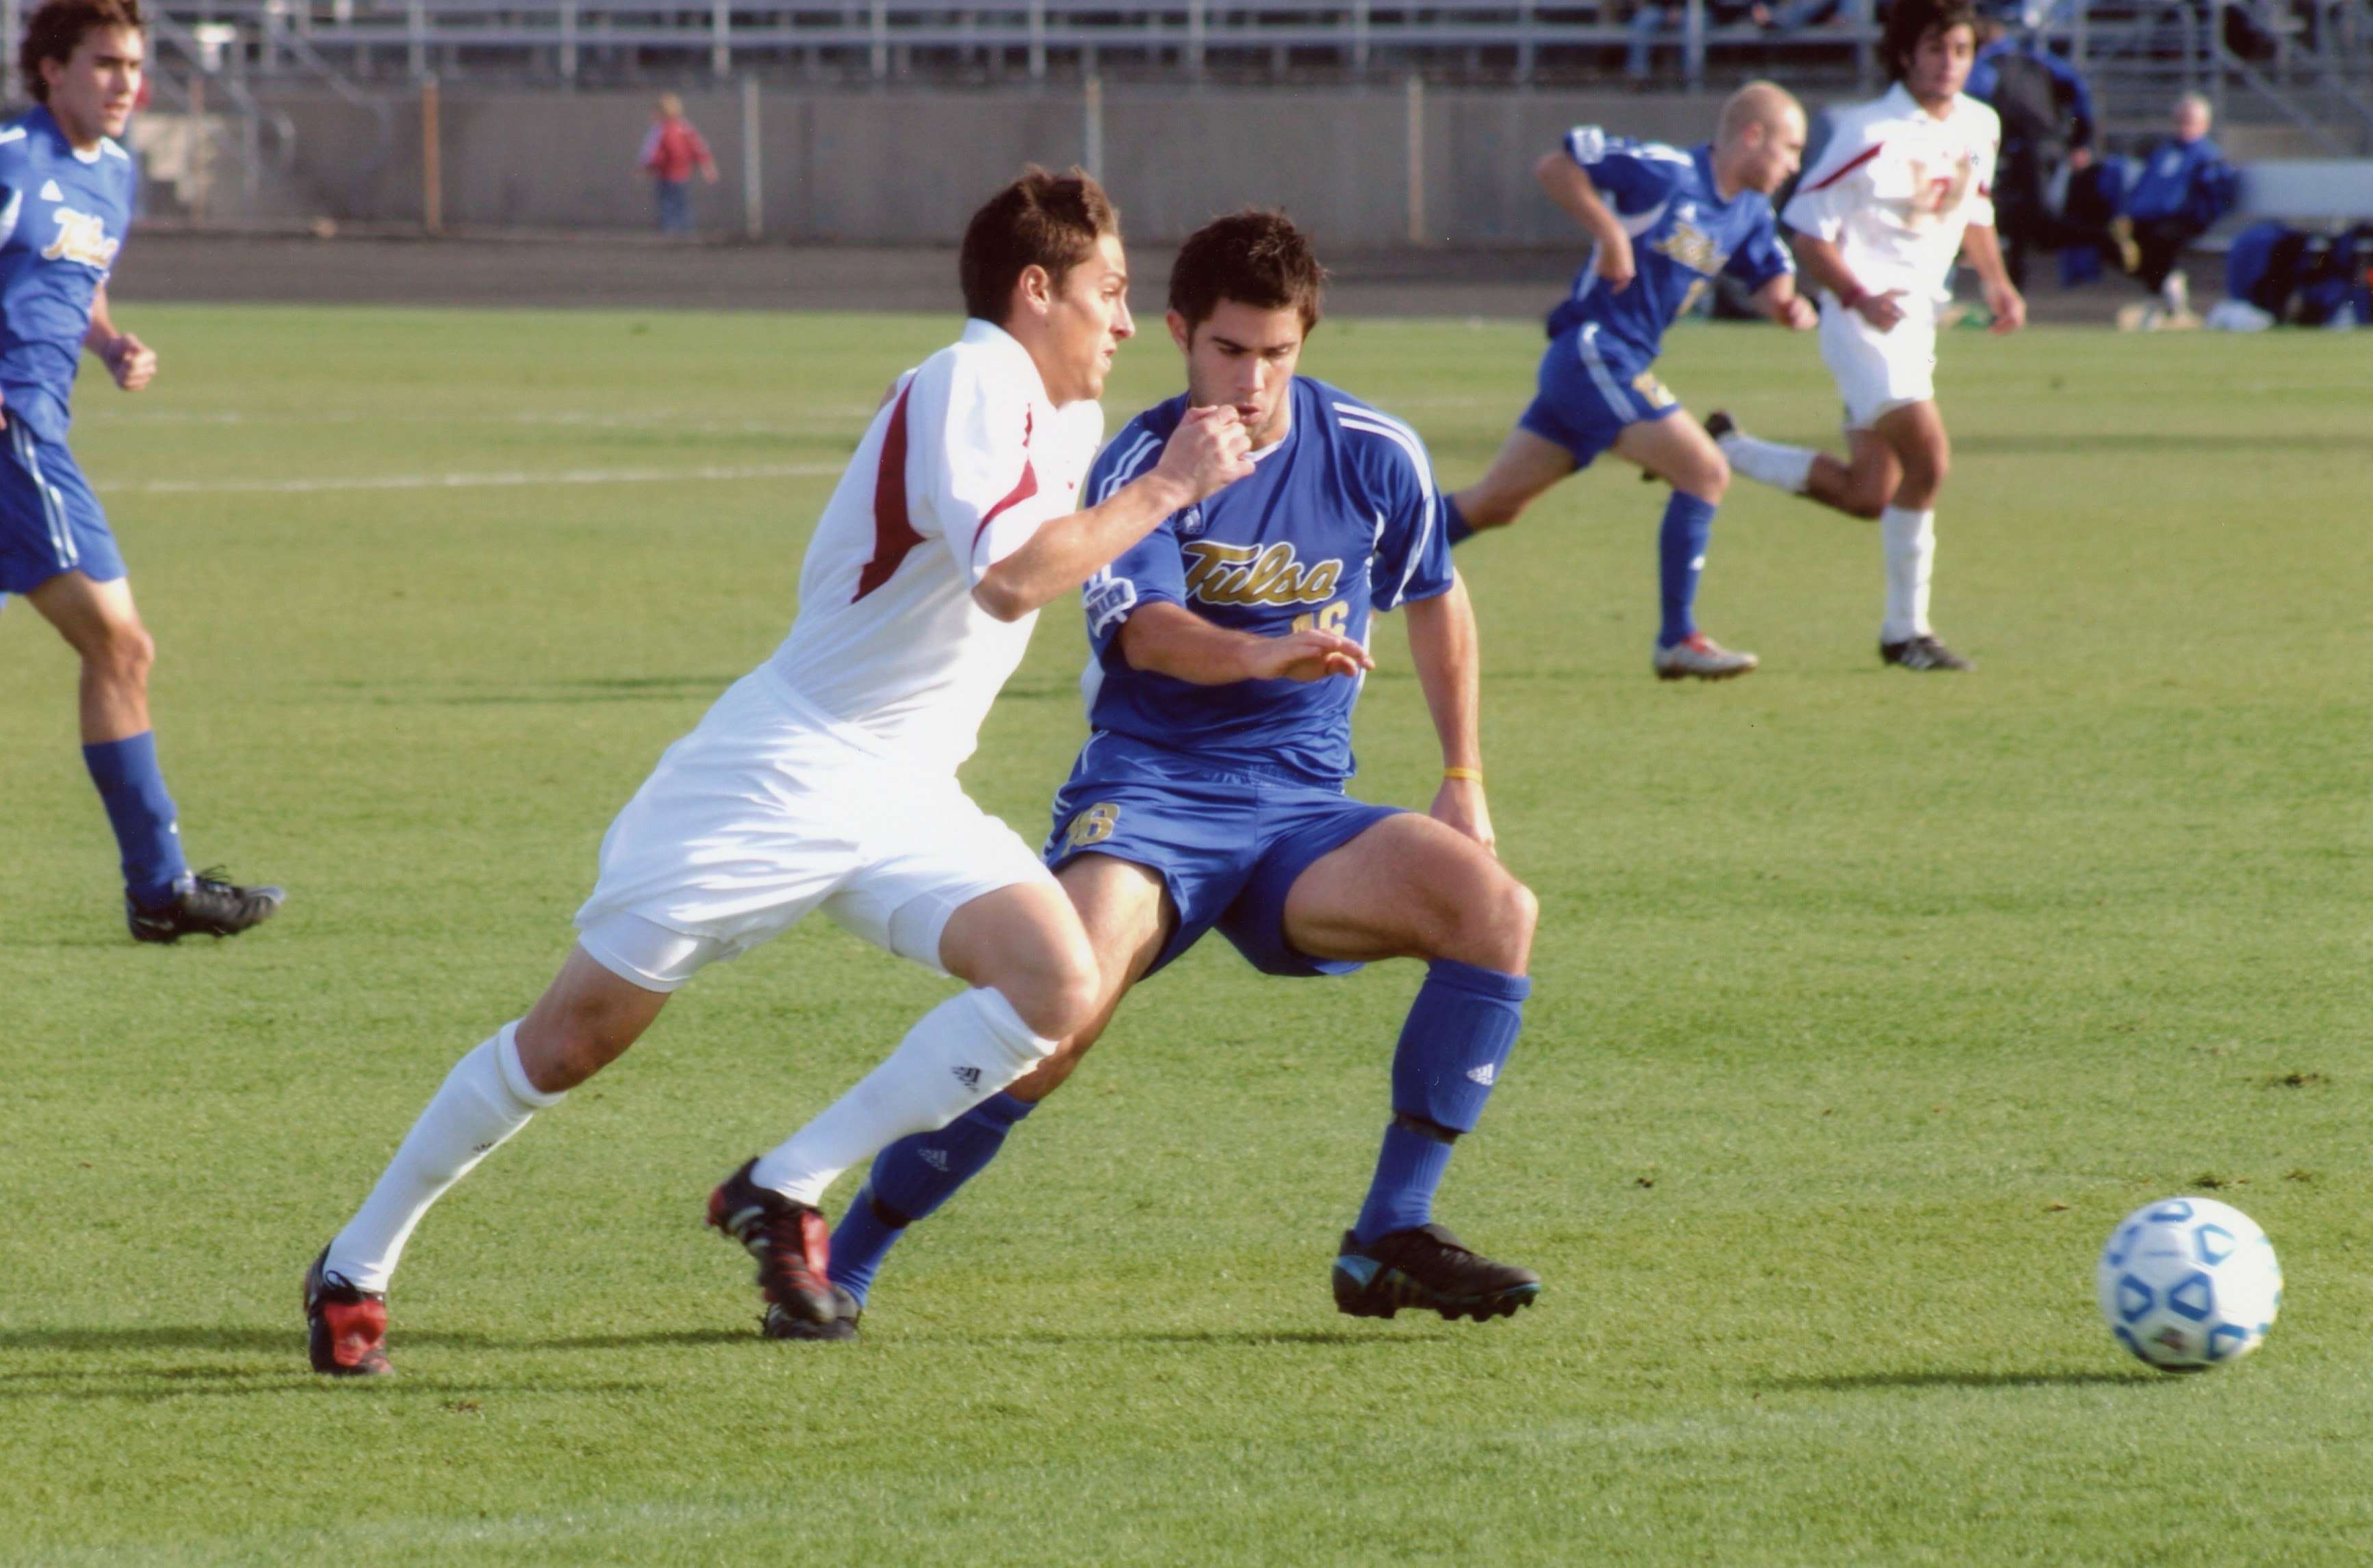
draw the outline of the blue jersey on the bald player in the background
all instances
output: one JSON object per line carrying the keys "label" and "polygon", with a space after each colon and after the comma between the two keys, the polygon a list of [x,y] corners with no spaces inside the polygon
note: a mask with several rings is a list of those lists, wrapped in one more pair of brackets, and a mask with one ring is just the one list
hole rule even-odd
{"label": "blue jersey on the bald player in the background", "polygon": [[1550,313],[1550,337],[1595,320],[1599,342],[1621,344],[1640,370],[1663,344],[1663,330],[1718,273],[1761,289],[1796,261],[1780,244],[1773,204],[1761,190],[1728,202],[1713,185],[1713,147],[1680,152],[1663,142],[1607,135],[1597,126],[1566,133],[1573,159],[1633,242],[1633,280],[1621,294],[1599,282],[1599,254],[1573,278],[1573,297]]}

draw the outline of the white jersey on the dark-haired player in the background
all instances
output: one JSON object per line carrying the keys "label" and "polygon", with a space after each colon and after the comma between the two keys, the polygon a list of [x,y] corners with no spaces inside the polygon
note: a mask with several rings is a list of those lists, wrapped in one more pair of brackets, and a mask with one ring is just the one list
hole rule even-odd
{"label": "white jersey on the dark-haired player in the background", "polygon": [[1993,225],[2003,121],[1967,93],[1929,114],[1896,83],[1887,97],[1834,109],[1830,126],[1780,221],[1837,244],[1872,294],[1951,299],[1962,230]]}

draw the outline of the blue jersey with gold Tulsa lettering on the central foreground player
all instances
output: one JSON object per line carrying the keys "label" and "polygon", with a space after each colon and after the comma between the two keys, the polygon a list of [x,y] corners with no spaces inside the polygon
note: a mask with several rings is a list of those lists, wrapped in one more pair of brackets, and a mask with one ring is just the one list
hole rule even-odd
{"label": "blue jersey with gold Tulsa lettering on the central foreground player", "polygon": [[[1130,669],[1120,655],[1120,626],[1144,605],[1184,605],[1253,636],[1319,626],[1364,643],[1372,610],[1450,591],[1433,465],[1417,432],[1310,377],[1296,377],[1291,396],[1293,427],[1253,453],[1248,477],[1165,517],[1087,581],[1094,655],[1082,686],[1096,731],[1220,769],[1281,766],[1341,783],[1353,773],[1357,681],[1194,686]],[[1130,420],[1089,470],[1089,498],[1149,472],[1184,415],[1177,396]]]}

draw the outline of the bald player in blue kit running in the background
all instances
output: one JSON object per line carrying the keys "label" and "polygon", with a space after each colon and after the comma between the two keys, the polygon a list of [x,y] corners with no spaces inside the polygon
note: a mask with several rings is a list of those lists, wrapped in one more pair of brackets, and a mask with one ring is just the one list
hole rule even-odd
{"label": "bald player in blue kit running in the background", "polygon": [[1656,538],[1663,624],[1654,669],[1666,681],[1720,681],[1756,655],[1697,629],[1697,576],[1713,538],[1713,508],[1730,465],[1652,370],[1663,330],[1716,275],[1756,289],[1756,306],[1784,327],[1818,323],[1796,297],[1796,263],[1773,221],[1770,192],[1803,157],[1803,109],[1773,83],[1749,83],[1723,104],[1711,145],[1663,142],[1576,126],[1533,173],[1590,237],[1573,297],[1550,313],[1540,396],[1516,420],[1490,472],[1450,498],[1450,541],[1497,529],[1566,474],[1607,451],[1673,486]]}

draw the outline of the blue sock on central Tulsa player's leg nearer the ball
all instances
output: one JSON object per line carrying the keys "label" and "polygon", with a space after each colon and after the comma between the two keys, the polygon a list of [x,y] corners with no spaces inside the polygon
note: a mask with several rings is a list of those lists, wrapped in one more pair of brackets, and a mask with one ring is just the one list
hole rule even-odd
{"label": "blue sock on central Tulsa player's leg nearer the ball", "polygon": [[1450,1143],[1474,1132],[1483,1101],[1516,1048],[1523,975],[1436,958],[1410,1003],[1393,1051],[1393,1124],[1383,1129],[1376,1179],[1353,1224],[1362,1245],[1433,1219],[1433,1188],[1450,1169]]}

